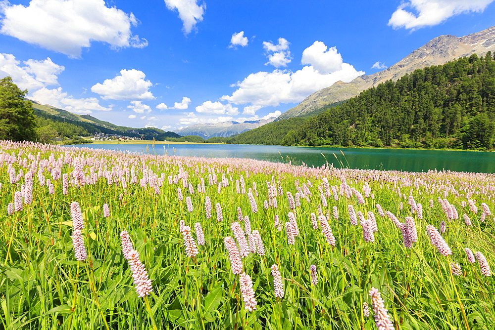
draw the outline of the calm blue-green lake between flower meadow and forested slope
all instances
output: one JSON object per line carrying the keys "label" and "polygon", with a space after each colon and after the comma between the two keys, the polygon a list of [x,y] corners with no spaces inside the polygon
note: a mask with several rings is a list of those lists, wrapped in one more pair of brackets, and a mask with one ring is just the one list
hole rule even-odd
{"label": "calm blue-green lake between flower meadow and forested slope", "polygon": [[[143,144],[80,144],[74,147],[147,153]],[[342,153],[342,152],[343,153]],[[428,171],[430,169],[463,172],[495,172],[495,153],[472,151],[338,149],[282,147],[237,144],[166,144],[148,145],[148,154],[196,156],[208,158],[251,158],[269,162],[302,163],[361,169]]]}

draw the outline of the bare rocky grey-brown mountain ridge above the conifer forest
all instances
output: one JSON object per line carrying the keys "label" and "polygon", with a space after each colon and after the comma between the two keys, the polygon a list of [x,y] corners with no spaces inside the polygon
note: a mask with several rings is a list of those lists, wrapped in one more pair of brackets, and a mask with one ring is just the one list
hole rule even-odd
{"label": "bare rocky grey-brown mountain ridge above the conifer forest", "polygon": [[307,117],[311,112],[328,104],[347,100],[381,82],[390,79],[396,81],[416,69],[445,64],[473,53],[485,55],[488,51],[495,51],[495,26],[459,38],[451,35],[440,36],[414,50],[388,69],[372,75],[359,76],[351,82],[339,81],[314,92],[297,106],[280,115],[277,121],[292,117]]}

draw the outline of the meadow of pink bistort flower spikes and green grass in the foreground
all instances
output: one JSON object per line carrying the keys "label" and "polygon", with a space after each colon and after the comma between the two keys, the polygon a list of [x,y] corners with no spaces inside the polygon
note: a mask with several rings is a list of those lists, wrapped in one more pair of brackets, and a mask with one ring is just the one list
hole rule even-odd
{"label": "meadow of pink bistort flower spikes and green grass in the foreground", "polygon": [[495,327],[494,174],[1,141],[0,184],[1,329]]}

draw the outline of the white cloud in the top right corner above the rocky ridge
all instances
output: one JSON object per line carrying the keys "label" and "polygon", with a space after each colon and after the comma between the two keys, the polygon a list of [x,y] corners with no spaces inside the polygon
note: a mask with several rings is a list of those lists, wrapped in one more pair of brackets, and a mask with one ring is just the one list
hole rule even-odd
{"label": "white cloud in the top right corner above the rocky ridge", "polygon": [[[409,0],[397,7],[389,20],[394,29],[416,30],[434,26],[449,17],[468,12],[482,12],[494,0]],[[412,9],[414,12],[406,10]]]}

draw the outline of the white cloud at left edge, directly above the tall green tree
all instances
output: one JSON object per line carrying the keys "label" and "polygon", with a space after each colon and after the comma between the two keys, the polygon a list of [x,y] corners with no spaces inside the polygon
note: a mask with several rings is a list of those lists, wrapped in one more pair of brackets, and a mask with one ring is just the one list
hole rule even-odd
{"label": "white cloud at left edge, directly above the tall green tree", "polygon": [[10,76],[12,81],[20,89],[27,89],[29,92],[46,87],[58,85],[57,75],[65,68],[51,61],[29,59],[20,65],[20,61],[12,54],[0,53],[0,76],[1,78]]}

